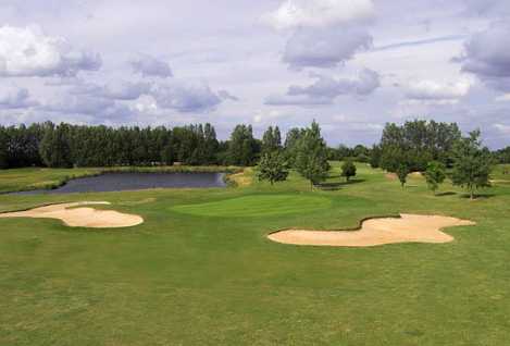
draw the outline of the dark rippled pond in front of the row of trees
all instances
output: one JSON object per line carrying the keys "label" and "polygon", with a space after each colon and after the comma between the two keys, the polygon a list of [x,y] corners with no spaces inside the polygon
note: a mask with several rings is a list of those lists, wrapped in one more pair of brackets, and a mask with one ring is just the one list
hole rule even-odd
{"label": "dark rippled pond in front of the row of trees", "polygon": [[109,193],[148,188],[225,187],[225,173],[105,173],[69,181],[55,189],[37,189],[16,195]]}

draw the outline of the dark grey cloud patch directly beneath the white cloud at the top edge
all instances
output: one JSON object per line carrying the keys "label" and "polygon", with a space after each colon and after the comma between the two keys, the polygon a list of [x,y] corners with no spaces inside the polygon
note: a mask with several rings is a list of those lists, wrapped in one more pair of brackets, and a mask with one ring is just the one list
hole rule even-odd
{"label": "dark grey cloud patch directly beneath the white cloud at the top edge", "polygon": [[291,69],[335,67],[372,47],[372,36],[359,27],[299,29],[287,41],[283,61]]}

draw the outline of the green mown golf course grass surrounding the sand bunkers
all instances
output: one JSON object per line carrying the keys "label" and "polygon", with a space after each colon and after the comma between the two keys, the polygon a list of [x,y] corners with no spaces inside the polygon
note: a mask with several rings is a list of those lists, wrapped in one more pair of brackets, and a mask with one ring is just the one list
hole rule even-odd
{"label": "green mown golf course grass surrounding the sand bunkers", "polygon": [[[0,345],[506,345],[510,186],[470,201],[449,184],[434,197],[418,177],[402,189],[364,164],[350,184],[338,172],[335,163],[332,190],[309,191],[293,173],[275,187],[0,196],[3,211],[108,200],[104,208],[146,220],[115,231],[0,220]],[[16,173],[1,172],[1,186],[57,174],[4,183]],[[398,212],[477,225],[446,230],[456,240],[440,245],[302,247],[265,237]]]}

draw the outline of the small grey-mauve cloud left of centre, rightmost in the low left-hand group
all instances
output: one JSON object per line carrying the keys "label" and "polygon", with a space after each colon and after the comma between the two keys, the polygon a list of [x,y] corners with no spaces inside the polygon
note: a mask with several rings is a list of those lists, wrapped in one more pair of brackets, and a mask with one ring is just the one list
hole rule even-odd
{"label": "small grey-mauve cloud left of centre, rightmost in the low left-hand group", "polygon": [[206,83],[156,84],[151,96],[159,108],[173,109],[183,113],[212,111],[223,101]]}

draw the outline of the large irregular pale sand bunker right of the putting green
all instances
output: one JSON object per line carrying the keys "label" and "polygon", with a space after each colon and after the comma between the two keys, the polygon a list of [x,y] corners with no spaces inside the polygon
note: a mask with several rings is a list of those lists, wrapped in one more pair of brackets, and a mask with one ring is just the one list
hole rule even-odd
{"label": "large irregular pale sand bunker right of the putting green", "polygon": [[272,233],[268,237],[283,244],[349,247],[396,243],[449,243],[453,237],[439,230],[474,224],[456,218],[401,214],[400,218],[366,220],[359,231],[287,230]]}

